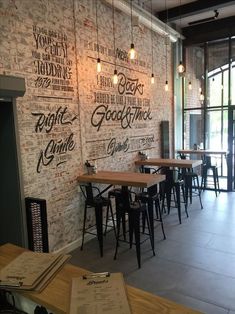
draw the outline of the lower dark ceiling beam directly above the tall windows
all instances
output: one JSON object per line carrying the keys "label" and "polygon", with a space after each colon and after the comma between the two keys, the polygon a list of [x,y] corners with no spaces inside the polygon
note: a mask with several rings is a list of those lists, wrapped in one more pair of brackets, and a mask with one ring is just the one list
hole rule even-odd
{"label": "lower dark ceiling beam directly above the tall windows", "polygon": [[184,46],[235,36],[235,16],[182,29]]}

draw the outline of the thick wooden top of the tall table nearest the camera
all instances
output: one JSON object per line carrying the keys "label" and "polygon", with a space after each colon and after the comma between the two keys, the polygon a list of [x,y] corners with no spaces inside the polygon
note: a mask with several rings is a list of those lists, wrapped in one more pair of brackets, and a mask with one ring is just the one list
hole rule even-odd
{"label": "thick wooden top of the tall table nearest the camera", "polygon": [[94,174],[83,174],[77,177],[79,182],[103,183],[122,186],[148,188],[165,180],[165,175],[139,172],[98,171]]}

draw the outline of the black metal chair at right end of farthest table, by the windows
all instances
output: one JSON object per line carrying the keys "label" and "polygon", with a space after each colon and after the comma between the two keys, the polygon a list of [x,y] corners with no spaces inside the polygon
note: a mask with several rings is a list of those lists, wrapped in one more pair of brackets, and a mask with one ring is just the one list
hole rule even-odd
{"label": "black metal chair at right end of farthest table, by the windows", "polygon": [[214,190],[215,190],[215,195],[217,196],[217,192],[220,192],[218,168],[217,168],[216,165],[212,165],[212,163],[211,163],[211,156],[207,156],[206,155],[204,157],[203,165],[202,165],[201,188],[203,190],[205,190],[206,187],[209,185],[209,182],[208,182],[208,172],[210,170],[212,171]]}

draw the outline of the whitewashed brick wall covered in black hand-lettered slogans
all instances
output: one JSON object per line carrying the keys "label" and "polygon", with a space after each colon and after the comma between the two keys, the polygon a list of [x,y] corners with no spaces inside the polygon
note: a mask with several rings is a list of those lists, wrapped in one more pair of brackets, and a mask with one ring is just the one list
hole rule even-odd
{"label": "whitewashed brick wall covered in black hand-lettered slogans", "polygon": [[91,0],[0,0],[0,73],[26,80],[26,94],[17,99],[23,189],[25,196],[47,200],[52,251],[80,238],[76,176],[85,160],[96,160],[98,169],[134,170],[139,150],[160,156],[160,121],[172,128],[164,38],[153,34],[151,86],[150,30],[134,28],[138,60],[130,63],[130,17],[116,10],[114,86],[112,8],[98,2],[99,75],[95,13]]}

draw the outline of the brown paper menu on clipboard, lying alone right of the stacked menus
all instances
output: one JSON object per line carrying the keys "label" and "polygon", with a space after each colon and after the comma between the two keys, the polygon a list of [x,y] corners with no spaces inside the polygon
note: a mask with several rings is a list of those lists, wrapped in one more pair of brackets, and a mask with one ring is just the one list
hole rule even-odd
{"label": "brown paper menu on clipboard, lying alone right of the stacked menus", "polygon": [[69,314],[130,314],[121,273],[73,278]]}

